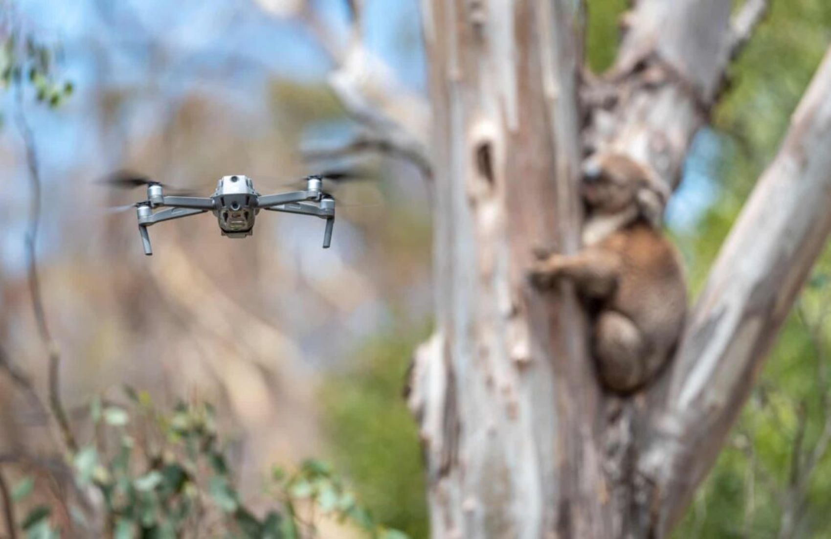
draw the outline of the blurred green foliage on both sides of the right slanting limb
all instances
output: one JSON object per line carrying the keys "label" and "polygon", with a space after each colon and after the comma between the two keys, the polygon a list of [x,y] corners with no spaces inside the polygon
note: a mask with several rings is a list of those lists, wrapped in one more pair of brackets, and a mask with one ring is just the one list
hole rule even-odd
{"label": "blurred green foliage on both sides of the right slanting limb", "polygon": [[[722,147],[715,203],[694,231],[678,235],[691,254],[694,290],[701,289],[741,204],[776,154],[828,45],[829,28],[828,2],[771,2],[767,21],[732,66],[731,86],[714,115]],[[676,537],[827,537],[831,458],[821,450],[831,414],[825,397],[829,269],[826,251]],[[809,469],[813,453],[819,461]]]}

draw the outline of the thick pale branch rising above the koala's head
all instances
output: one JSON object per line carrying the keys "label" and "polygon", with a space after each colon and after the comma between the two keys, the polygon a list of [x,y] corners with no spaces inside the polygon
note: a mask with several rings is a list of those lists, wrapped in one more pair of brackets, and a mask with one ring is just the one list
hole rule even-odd
{"label": "thick pale branch rising above the koala's head", "polygon": [[675,187],[693,136],[724,87],[730,59],[749,39],[766,0],[736,17],[723,0],[641,0],[617,61],[587,103],[586,153],[626,154]]}

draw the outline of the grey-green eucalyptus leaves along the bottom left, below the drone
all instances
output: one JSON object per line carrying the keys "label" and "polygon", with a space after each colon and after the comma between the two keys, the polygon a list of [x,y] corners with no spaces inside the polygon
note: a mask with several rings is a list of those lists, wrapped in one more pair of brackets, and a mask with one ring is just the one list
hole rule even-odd
{"label": "grey-green eucalyptus leaves along the bottom left, below the drone", "polygon": [[[367,537],[406,538],[379,527],[332,468],[317,460],[292,472],[273,468],[264,494],[278,508],[258,517],[234,486],[209,404],[182,402],[163,414],[148,394],[126,393],[129,406],[93,402],[96,437],[72,459],[78,487],[100,494],[107,537],[294,539],[315,537],[317,517],[327,517]],[[32,478],[24,479],[14,500],[22,502],[32,486]],[[27,537],[59,537],[50,515],[47,505],[31,508],[22,521]]]}

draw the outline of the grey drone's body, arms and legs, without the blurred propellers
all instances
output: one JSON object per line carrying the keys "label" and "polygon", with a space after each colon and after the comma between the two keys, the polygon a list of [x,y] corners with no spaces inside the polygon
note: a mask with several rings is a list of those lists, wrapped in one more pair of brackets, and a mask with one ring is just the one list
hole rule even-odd
{"label": "grey drone's body, arms and legs, without the blurred propellers", "polygon": [[[300,213],[326,219],[323,233],[323,248],[332,243],[332,229],[335,226],[335,199],[322,191],[321,176],[308,176],[305,191],[283,194],[261,195],[253,188],[248,176],[224,176],[219,180],[216,191],[207,197],[171,197],[162,192],[162,185],[147,184],[147,200],[137,203],[139,233],[144,243],[145,255],[153,254],[150,234],[147,228],[155,223],[214,212],[219,220],[223,236],[245,238],[253,234],[254,218],[261,209],[273,212]],[[167,208],[154,213],[155,208]]]}

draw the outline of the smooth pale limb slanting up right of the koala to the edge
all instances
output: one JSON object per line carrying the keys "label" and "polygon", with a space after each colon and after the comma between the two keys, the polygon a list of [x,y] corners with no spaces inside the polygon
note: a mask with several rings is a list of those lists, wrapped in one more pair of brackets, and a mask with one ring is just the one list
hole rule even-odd
{"label": "smooth pale limb slanting up right of the koala to the edge", "polygon": [[[658,530],[710,470],[766,352],[831,233],[831,50],[774,162],[721,248],[686,327],[639,468]],[[660,534],[659,534],[660,535]]]}

